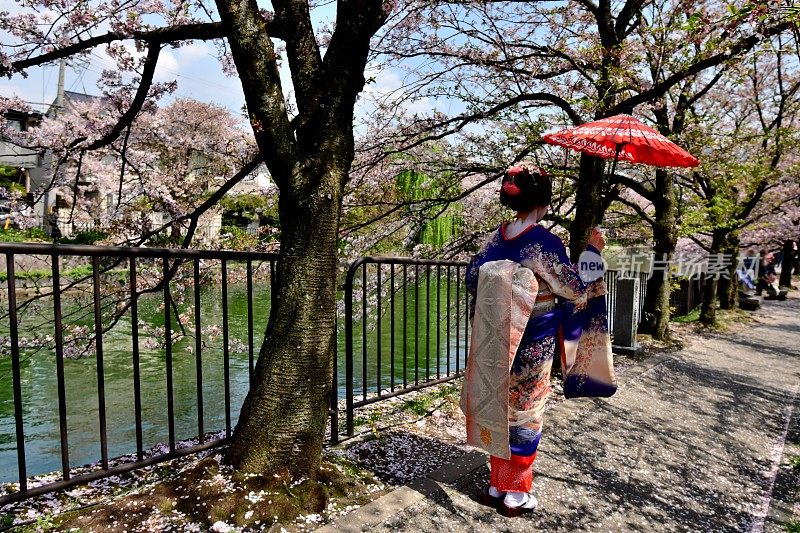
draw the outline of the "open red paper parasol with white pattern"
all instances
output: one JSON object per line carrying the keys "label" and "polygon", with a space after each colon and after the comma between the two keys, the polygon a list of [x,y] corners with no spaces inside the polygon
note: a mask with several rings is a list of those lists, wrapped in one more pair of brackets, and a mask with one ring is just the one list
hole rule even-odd
{"label": "open red paper parasol with white pattern", "polygon": [[614,115],[548,133],[544,140],[603,159],[613,157],[614,166],[617,159],[657,167],[700,164],[692,154],[631,115]]}

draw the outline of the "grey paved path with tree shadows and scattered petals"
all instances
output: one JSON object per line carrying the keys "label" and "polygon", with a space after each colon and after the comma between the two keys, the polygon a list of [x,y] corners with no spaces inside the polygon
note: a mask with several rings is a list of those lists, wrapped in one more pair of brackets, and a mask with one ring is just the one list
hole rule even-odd
{"label": "grey paved path with tree shadows and scattered petals", "polygon": [[613,398],[550,410],[532,515],[477,502],[475,451],[317,531],[783,532],[800,519],[800,299],[758,316],[629,369]]}

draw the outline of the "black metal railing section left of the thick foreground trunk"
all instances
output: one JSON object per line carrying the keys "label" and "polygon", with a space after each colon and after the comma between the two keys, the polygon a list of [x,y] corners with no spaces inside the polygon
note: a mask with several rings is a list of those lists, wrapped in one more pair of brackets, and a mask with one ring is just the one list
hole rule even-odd
{"label": "black metal railing section left of the thick foreground trunk", "polygon": [[[246,334],[239,328],[239,336],[245,337],[246,341],[246,360],[240,366],[246,366],[242,370],[245,374],[245,384],[249,384],[252,379],[254,358],[253,358],[253,331],[254,331],[254,264],[259,267],[259,273],[266,270],[269,275],[269,283],[273,282],[273,272],[278,267],[278,256],[267,253],[246,253],[230,251],[200,251],[200,250],[173,250],[173,249],[153,249],[153,248],[112,248],[98,246],[72,246],[72,245],[46,245],[46,244],[0,244],[0,253],[6,256],[6,281],[7,281],[7,337],[3,343],[2,350],[6,355],[10,355],[11,381],[13,389],[13,425],[14,436],[11,437],[16,445],[16,463],[19,489],[16,492],[0,496],[0,505],[12,501],[26,499],[38,494],[69,487],[78,483],[84,483],[103,477],[107,477],[122,472],[127,472],[144,466],[148,466],[160,461],[172,459],[174,457],[188,455],[220,446],[230,437],[232,424],[234,423],[231,415],[233,405],[231,399],[231,327],[229,324],[229,277],[238,275],[244,278],[243,285],[247,292],[246,305]],[[36,281],[30,283],[26,281],[26,288],[18,281],[29,280],[24,267],[21,264],[31,263],[32,261],[23,258],[33,258],[39,264],[49,263],[50,279],[46,279],[41,269],[38,270]],[[70,271],[62,268],[63,262],[78,263],[77,268],[73,267]],[[35,263],[35,261],[34,261]],[[219,270],[215,269],[216,264]],[[236,272],[231,272],[233,265]],[[267,269],[267,266],[269,267]],[[263,267],[263,268],[262,268]],[[79,272],[76,274],[76,270]],[[30,274],[30,272],[27,272]],[[266,275],[266,274],[265,274]],[[205,279],[205,282],[204,282]],[[180,294],[181,283],[185,287],[185,294]],[[201,295],[201,288],[206,285],[211,294]],[[266,285],[266,282],[265,282]],[[89,288],[91,287],[91,289]],[[25,292],[22,292],[25,291]],[[266,292],[266,290],[262,291]],[[271,291],[271,294],[273,291]],[[166,429],[165,436],[168,448],[159,450],[154,446],[151,453],[145,450],[143,428],[147,425],[152,429],[152,420],[143,419],[145,402],[152,401],[153,398],[143,398],[143,387],[145,380],[155,373],[153,361],[158,364],[162,361],[161,357],[150,358],[148,367],[142,368],[142,327],[141,305],[148,295],[162,299],[163,313],[163,345],[159,346],[157,352],[163,355],[163,376],[166,389]],[[204,299],[205,296],[205,299]],[[70,300],[70,309],[65,311],[64,299]],[[153,298],[153,297],[151,297]],[[214,390],[220,384],[210,383],[209,378],[204,375],[204,365],[212,364],[208,361],[213,357],[214,351],[211,346],[213,334],[204,332],[202,329],[203,319],[201,306],[204,301],[221,301],[222,305],[222,348],[217,352],[222,352],[223,378],[221,387],[224,389],[222,402],[209,404],[204,399],[204,391]],[[149,302],[153,307],[153,302]],[[156,305],[156,307],[158,307]],[[268,311],[270,299],[260,302],[259,308]],[[150,321],[158,321],[160,312],[150,310]],[[46,321],[36,323],[36,317],[45,317]],[[32,318],[33,317],[33,318]],[[127,333],[126,322],[130,323]],[[259,317],[261,324],[266,323],[266,317]],[[49,324],[49,333],[42,337],[45,324]],[[209,324],[212,329],[216,327]],[[85,332],[81,335],[70,335],[70,328],[75,331]],[[263,331],[263,330],[262,330]],[[39,336],[45,340],[23,343],[22,340],[28,336]],[[109,362],[109,338],[114,338],[119,342],[120,338],[129,335],[130,342],[126,342],[126,348],[122,350],[129,354],[128,363],[125,364],[126,371],[130,371],[130,380],[124,385],[121,384],[117,375],[108,372],[106,364]],[[153,335],[146,333],[152,340]],[[157,335],[156,335],[157,336]],[[180,355],[176,355],[177,347],[175,343],[180,339],[190,339],[194,336],[193,355],[189,353],[187,346],[183,343]],[[242,343],[244,344],[244,343]],[[152,350],[151,350],[152,351]],[[244,353],[245,350],[240,350]],[[74,357],[68,352],[80,352],[89,355],[93,352],[94,357]],[[34,361],[52,361],[55,373],[55,398],[49,402],[40,402],[33,405],[33,402],[26,400],[26,394],[30,395],[37,389],[47,388],[47,385],[38,383],[36,380],[43,381],[52,379],[46,372],[37,369],[31,370],[28,377],[23,379],[23,369],[34,366],[32,357],[36,353],[42,353],[43,357],[33,359]],[[119,353],[114,357],[119,357]],[[175,358],[188,363],[188,358],[194,358],[194,393],[188,385],[184,375],[176,375]],[[0,358],[8,360],[9,358]],[[93,363],[92,363],[93,362]],[[113,361],[119,366],[119,361]],[[93,389],[96,394],[93,398],[78,397],[71,390],[72,386],[79,386],[77,381],[72,381],[68,386],[67,367],[74,370],[76,365],[93,365],[91,374],[95,375],[96,385]],[[157,365],[156,365],[157,366]],[[191,368],[187,364],[182,364],[181,369]],[[144,372],[146,375],[143,377]],[[161,371],[158,371],[161,375]],[[82,374],[87,378],[88,374]],[[180,383],[176,384],[176,378]],[[127,379],[127,378],[126,378]],[[191,378],[189,378],[191,379]],[[82,380],[85,385],[86,379]],[[130,383],[132,381],[132,383]],[[115,391],[119,387],[133,388],[133,418],[135,426],[135,445],[133,442],[123,442],[117,438],[115,431],[118,428],[110,428],[109,417],[109,396],[108,385],[112,385]],[[176,385],[182,389],[183,398],[180,406],[176,405]],[[246,387],[245,387],[246,388]],[[27,389],[27,390],[26,390]],[[187,390],[188,389],[188,390]],[[149,390],[149,388],[148,388]],[[244,391],[246,392],[246,390]],[[241,397],[241,391],[239,391]],[[61,463],[61,479],[55,482],[43,483],[32,486],[29,483],[30,475],[38,475],[45,472],[31,472],[29,460],[31,456],[26,450],[26,445],[38,442],[41,435],[32,435],[27,429],[42,426],[41,419],[54,415],[46,412],[35,412],[34,409],[42,409],[42,405],[52,404],[57,401],[57,421],[53,420],[52,425],[58,427],[58,437],[53,438],[54,442],[48,443],[45,448],[52,450],[58,449]],[[4,402],[8,403],[8,402]],[[25,405],[29,403],[29,405]],[[76,408],[75,405],[79,404]],[[189,405],[193,404],[193,405]],[[221,404],[221,405],[220,405]],[[99,442],[99,450],[94,458],[94,466],[73,465],[70,448],[70,425],[69,418],[78,416],[76,411],[80,410],[80,405],[85,405],[87,410],[94,411],[92,417],[96,417],[96,441]],[[96,406],[96,407],[95,407]],[[9,407],[6,405],[6,407]],[[116,404],[115,409],[120,406]],[[177,413],[177,408],[181,413]],[[209,407],[219,409],[224,413],[216,413],[216,419],[221,421],[220,427],[208,427]],[[238,410],[238,408],[237,408]],[[186,429],[187,412],[196,411],[196,425],[191,433]],[[178,417],[184,422],[182,434],[176,428]],[[26,420],[26,417],[29,419]],[[212,417],[214,418],[214,417]],[[27,423],[27,425],[26,425]],[[46,426],[47,424],[45,424]],[[156,435],[164,428],[156,428],[151,431]],[[218,431],[218,433],[214,433]],[[80,433],[85,433],[85,428]],[[10,437],[10,435],[9,435]],[[54,436],[55,437],[55,436]],[[126,457],[125,460],[115,461],[109,455],[109,439],[114,437],[115,457]],[[52,453],[52,451],[50,452]],[[83,454],[84,456],[86,454]],[[99,459],[99,461],[98,461]],[[76,474],[76,472],[78,472]],[[5,472],[10,474],[10,472]],[[10,480],[4,479],[8,482]]]}

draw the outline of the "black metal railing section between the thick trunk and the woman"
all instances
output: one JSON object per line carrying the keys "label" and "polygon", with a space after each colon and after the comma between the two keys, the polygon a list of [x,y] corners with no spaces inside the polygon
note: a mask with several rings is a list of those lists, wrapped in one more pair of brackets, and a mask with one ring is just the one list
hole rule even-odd
{"label": "black metal railing section between the thick trunk and the woman", "polygon": [[[461,376],[469,350],[466,266],[397,257],[350,265],[344,283],[348,436],[356,408]],[[338,420],[335,429],[334,440]]]}

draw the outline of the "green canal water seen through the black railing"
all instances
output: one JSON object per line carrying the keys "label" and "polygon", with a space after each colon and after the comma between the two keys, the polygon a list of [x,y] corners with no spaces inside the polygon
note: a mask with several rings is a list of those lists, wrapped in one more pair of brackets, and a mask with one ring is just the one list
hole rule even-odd
{"label": "green canal water seen through the black railing", "polygon": [[[398,281],[398,288],[402,289]],[[353,325],[353,382],[356,400],[364,391],[374,392],[380,387],[388,389],[404,382],[436,378],[452,372],[464,364],[465,305],[464,288],[461,286],[460,317],[456,321],[456,284],[450,283],[453,300],[447,309],[447,283],[420,282],[419,287],[397,290],[394,298],[394,339],[392,339],[391,305],[387,299],[381,302],[380,324],[375,314],[368,315],[366,335],[366,365],[363,349],[364,321],[357,318]],[[356,294],[356,298],[360,295]],[[438,312],[437,312],[438,298]],[[222,295],[220,288],[204,288],[201,294],[201,323],[203,327],[217,325],[220,334],[204,334],[205,346],[201,351],[202,396],[204,431],[225,428],[224,360],[222,350]],[[90,300],[89,300],[90,302]],[[147,326],[163,326],[163,302],[161,295],[147,295],[139,300],[140,329],[140,375],[142,401],[142,434],[145,450],[169,440],[167,420],[167,372],[165,351],[148,347],[154,339],[149,337]],[[269,286],[256,283],[253,287],[253,340],[254,354],[258,356],[263,332],[269,314]],[[36,332],[52,332],[52,300],[43,299],[35,310],[21,315],[21,336]],[[373,302],[375,305],[376,302]],[[7,303],[0,303],[6,306]],[[80,324],[91,326],[92,316],[87,299],[64,295],[65,326]],[[360,311],[360,304],[356,302]],[[193,299],[183,302],[181,310],[189,310],[187,327],[193,333]],[[5,311],[5,309],[3,309]],[[87,315],[88,312],[88,315]],[[360,313],[359,313],[360,314]],[[80,315],[80,316],[77,316]],[[174,322],[174,321],[173,321]],[[228,327],[230,347],[230,404],[232,424],[235,425],[242,401],[249,386],[248,364],[248,320],[246,286],[231,284],[228,288]],[[338,335],[338,391],[345,395],[345,335],[344,321],[339,322]],[[458,328],[457,328],[458,326]],[[174,327],[174,324],[173,324]],[[7,335],[8,324],[0,325],[0,335]],[[449,331],[449,335],[448,335]],[[380,332],[380,335],[378,334]],[[405,332],[405,336],[404,336]],[[160,338],[160,337],[159,337]],[[461,339],[461,340],[459,340]],[[394,340],[394,343],[392,343]],[[380,345],[381,361],[378,362]],[[177,441],[196,438],[198,435],[198,384],[197,361],[194,351],[195,339],[188,336],[173,346],[173,400],[175,411],[175,437]],[[391,372],[390,361],[394,348],[395,369]],[[134,412],[134,379],[132,362],[131,322],[126,314],[103,336],[103,361],[105,383],[105,406],[108,433],[108,455],[118,457],[136,452],[136,423]],[[449,354],[449,356],[448,356]],[[416,355],[416,357],[415,357]],[[403,360],[407,365],[404,371]],[[64,361],[66,390],[67,434],[69,463],[71,467],[99,461],[100,424],[97,398],[97,361],[90,354],[80,359]],[[366,366],[366,389],[364,368]],[[380,378],[378,368],[380,367]],[[25,455],[28,475],[61,469],[61,446],[59,431],[59,408],[56,379],[56,357],[52,349],[23,349],[21,354],[21,387],[25,431]],[[16,481],[17,451],[14,423],[14,400],[12,389],[11,358],[8,349],[0,357],[0,482]]]}

